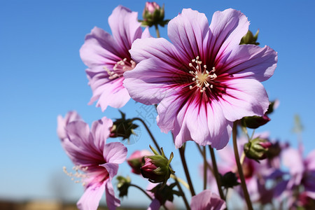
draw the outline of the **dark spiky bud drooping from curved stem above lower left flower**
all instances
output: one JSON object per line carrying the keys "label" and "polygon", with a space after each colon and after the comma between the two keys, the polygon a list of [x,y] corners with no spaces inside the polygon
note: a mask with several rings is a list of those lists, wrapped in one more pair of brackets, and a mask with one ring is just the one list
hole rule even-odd
{"label": "dark spiky bud drooping from curved stem above lower left flower", "polygon": [[126,119],[125,113],[122,111],[120,111],[120,114],[121,118],[116,119],[116,121],[113,122],[113,127],[111,127],[111,134],[109,137],[123,137],[123,140],[129,140],[132,134],[136,135],[134,130],[139,126],[132,123],[131,119]]}

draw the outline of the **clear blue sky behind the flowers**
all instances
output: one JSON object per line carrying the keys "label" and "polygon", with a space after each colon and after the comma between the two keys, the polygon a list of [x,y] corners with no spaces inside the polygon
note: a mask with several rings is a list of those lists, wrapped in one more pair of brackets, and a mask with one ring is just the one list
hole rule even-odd
{"label": "clear blue sky behind the flowers", "polygon": [[[296,146],[296,135],[291,129],[293,117],[298,114],[304,125],[302,137],[307,154],[315,148],[315,3],[260,2],[158,1],[165,3],[167,19],[174,18],[182,8],[193,8],[205,13],[210,22],[216,10],[235,8],[251,21],[252,31],[260,29],[260,45],[269,45],[279,53],[274,76],[263,84],[269,99],[280,101],[270,116],[272,121],[260,131],[269,131],[272,138]],[[145,1],[1,1],[0,199],[52,199],[57,194],[56,179],[64,183],[67,200],[80,197],[81,186],[62,172],[62,167],[70,168],[71,162],[59,144],[56,118],[70,110],[78,111],[89,124],[103,116],[120,116],[116,109],[103,113],[94,105],[87,105],[92,91],[78,53],[85,34],[94,26],[110,31],[107,18],[118,4],[138,11],[141,18]],[[161,29],[161,36],[167,37],[166,29]],[[130,118],[145,111],[143,105],[132,100],[121,110]],[[166,153],[174,151],[178,156],[170,135],[162,134],[154,120],[148,120]],[[129,154],[151,144],[144,127],[139,128],[139,136],[135,144],[127,146]],[[193,144],[188,145],[195,184],[201,186],[195,166],[202,160],[198,155],[190,155],[196,150]],[[173,165],[181,176],[178,158]],[[123,164],[118,173],[126,176],[130,169]],[[146,186],[143,179],[132,179]],[[137,199],[137,189],[132,192],[123,204]],[[148,200],[141,202],[148,204]]]}

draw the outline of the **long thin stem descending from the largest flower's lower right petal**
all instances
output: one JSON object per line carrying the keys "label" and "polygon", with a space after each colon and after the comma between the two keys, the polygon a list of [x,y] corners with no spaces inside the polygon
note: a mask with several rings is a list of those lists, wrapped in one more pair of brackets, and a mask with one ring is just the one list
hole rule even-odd
{"label": "long thin stem descending from the largest flower's lower right petal", "polygon": [[253,206],[251,204],[251,198],[248,195],[248,190],[246,188],[246,182],[243,174],[243,169],[241,168],[241,162],[239,161],[239,151],[237,149],[237,123],[234,122],[233,130],[232,130],[232,139],[233,139],[233,148],[235,154],[235,161],[237,162],[237,172],[239,172],[239,179],[241,180],[241,188],[243,189],[244,198],[246,200],[248,210],[253,210]]}

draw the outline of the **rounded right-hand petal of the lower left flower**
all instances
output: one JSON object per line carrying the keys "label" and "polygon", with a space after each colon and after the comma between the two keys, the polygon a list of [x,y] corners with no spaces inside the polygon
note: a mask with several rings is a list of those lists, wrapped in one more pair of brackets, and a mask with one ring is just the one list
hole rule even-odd
{"label": "rounded right-hand petal of the lower left flower", "polygon": [[103,155],[106,162],[120,164],[127,157],[127,148],[120,142],[111,142],[104,146]]}

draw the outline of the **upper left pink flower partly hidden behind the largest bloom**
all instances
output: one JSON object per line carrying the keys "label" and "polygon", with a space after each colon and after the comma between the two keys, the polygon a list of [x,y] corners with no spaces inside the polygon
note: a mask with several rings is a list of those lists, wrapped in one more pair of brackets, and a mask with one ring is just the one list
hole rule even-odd
{"label": "upper left pink flower partly hidden behind the largest bloom", "polygon": [[107,106],[120,108],[130,99],[123,87],[123,73],[134,69],[136,63],[128,50],[137,38],[150,36],[148,29],[142,33],[137,16],[138,13],[128,8],[116,7],[109,16],[113,36],[94,27],[80,48],[80,57],[88,66],[86,73],[93,92],[89,104],[98,100],[97,106],[101,106],[102,111]]}

